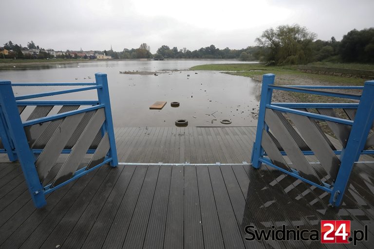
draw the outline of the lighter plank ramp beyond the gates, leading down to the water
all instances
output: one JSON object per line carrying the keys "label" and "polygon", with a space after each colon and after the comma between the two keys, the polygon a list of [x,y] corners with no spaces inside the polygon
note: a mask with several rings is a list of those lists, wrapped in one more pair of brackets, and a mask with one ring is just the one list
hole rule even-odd
{"label": "lighter plank ramp beyond the gates, leading down to the water", "polygon": [[140,163],[249,162],[255,127],[116,128],[118,160]]}

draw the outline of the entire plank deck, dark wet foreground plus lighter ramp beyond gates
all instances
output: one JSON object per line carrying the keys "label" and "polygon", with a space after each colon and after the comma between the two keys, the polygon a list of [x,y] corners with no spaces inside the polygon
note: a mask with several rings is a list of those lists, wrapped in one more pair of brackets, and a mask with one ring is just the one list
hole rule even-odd
{"label": "entire plank deck, dark wet foreground plus lighter ramp beyond gates", "polygon": [[[250,161],[255,127],[119,128],[121,162]],[[374,164],[355,165],[339,209],[329,195],[268,166],[103,166],[35,209],[18,163],[0,163],[1,249],[372,248]],[[320,168],[317,167],[317,170]],[[334,245],[248,241],[244,228],[319,229],[320,220],[369,226],[369,241]]]}

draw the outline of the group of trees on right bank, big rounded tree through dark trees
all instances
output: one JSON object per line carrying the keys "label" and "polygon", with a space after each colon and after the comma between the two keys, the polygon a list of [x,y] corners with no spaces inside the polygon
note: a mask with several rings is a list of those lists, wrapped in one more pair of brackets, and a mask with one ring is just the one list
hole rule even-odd
{"label": "group of trees on right bank, big rounded tree through dark trees", "polygon": [[337,41],[316,40],[317,35],[298,24],[265,30],[256,38],[258,59],[275,65],[307,64],[314,61],[374,62],[374,28],[352,30]]}

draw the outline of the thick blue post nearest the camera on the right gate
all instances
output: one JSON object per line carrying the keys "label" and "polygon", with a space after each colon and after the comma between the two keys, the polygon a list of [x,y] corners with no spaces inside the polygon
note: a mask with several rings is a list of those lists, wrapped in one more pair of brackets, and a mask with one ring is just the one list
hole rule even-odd
{"label": "thick blue post nearest the camera on the right gate", "polygon": [[341,165],[329,201],[333,206],[340,205],[351,175],[353,164],[364,149],[374,120],[373,96],[374,80],[366,81],[347,145],[342,149],[340,155]]}

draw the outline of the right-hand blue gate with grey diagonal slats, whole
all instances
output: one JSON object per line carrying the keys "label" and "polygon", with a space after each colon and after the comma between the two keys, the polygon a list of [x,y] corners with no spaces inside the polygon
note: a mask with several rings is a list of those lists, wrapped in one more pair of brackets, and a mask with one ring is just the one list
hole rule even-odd
{"label": "right-hand blue gate with grey diagonal slats, whole", "polygon": [[[339,206],[348,180],[360,155],[374,154],[374,81],[363,87],[277,86],[274,74],[262,78],[262,93],[252,165],[262,163],[299,178],[331,194],[329,203]],[[361,89],[362,94],[340,93],[326,89]],[[357,100],[359,103],[272,103],[273,90],[317,94]],[[346,115],[339,118],[336,109]],[[341,143],[337,149],[319,126],[326,122]],[[315,155],[325,170],[320,175],[316,164],[308,161]]]}

